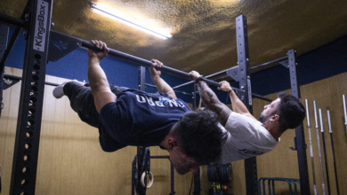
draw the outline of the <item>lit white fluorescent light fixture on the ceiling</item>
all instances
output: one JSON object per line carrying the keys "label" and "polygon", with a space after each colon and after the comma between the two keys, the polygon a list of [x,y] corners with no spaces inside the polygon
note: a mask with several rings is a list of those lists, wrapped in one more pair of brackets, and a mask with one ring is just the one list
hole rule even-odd
{"label": "lit white fluorescent light fixture on the ceiling", "polygon": [[108,5],[105,4],[96,4],[92,2],[91,9],[94,12],[101,13],[102,15],[107,16],[113,20],[123,22],[126,25],[136,27],[137,29],[145,31],[151,35],[157,35],[158,37],[163,39],[171,38],[173,36],[167,32],[157,29],[156,27],[149,27],[148,25],[141,24],[141,22],[133,20],[132,18],[124,15],[122,12],[110,8]]}

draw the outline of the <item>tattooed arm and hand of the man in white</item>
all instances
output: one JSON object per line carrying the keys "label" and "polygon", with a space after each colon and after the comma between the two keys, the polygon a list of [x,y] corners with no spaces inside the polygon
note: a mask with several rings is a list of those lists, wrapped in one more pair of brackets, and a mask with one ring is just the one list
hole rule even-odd
{"label": "tattooed arm and hand of the man in white", "polygon": [[[200,76],[200,74],[198,74],[196,71],[190,72],[190,75],[194,81]],[[222,102],[215,95],[214,91],[211,90],[204,81],[198,82],[198,93],[200,94],[200,98],[202,98],[207,108],[216,113],[222,126],[225,126],[229,115],[232,112],[230,108],[227,105],[222,104]]]}

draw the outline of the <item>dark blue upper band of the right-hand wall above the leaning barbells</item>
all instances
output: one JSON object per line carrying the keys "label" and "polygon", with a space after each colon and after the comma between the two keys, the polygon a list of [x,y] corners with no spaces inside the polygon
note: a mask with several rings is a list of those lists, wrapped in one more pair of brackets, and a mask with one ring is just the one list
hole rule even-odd
{"label": "dark blue upper band of the right-hand wall above the leaning barbells", "polygon": [[[347,35],[299,56],[297,63],[300,85],[347,72]],[[289,70],[285,66],[252,74],[251,79],[253,92],[262,96],[290,89]]]}

